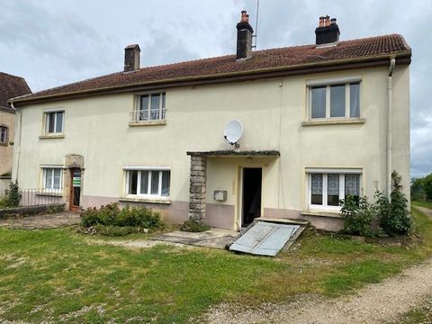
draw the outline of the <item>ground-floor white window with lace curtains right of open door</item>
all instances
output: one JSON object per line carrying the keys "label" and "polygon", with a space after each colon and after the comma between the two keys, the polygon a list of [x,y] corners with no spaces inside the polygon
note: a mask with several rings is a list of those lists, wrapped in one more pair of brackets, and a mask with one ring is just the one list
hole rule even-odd
{"label": "ground-floor white window with lace curtains right of open door", "polygon": [[311,210],[340,211],[339,201],[351,194],[358,201],[362,190],[360,169],[309,169],[307,200]]}

